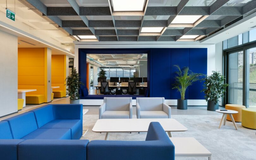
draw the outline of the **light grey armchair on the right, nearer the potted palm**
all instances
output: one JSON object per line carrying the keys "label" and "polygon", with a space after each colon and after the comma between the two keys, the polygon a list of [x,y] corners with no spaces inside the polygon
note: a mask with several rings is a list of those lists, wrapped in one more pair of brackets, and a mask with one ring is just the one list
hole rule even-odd
{"label": "light grey armchair on the right, nearer the potted palm", "polygon": [[164,97],[136,98],[137,118],[171,118],[171,107]]}

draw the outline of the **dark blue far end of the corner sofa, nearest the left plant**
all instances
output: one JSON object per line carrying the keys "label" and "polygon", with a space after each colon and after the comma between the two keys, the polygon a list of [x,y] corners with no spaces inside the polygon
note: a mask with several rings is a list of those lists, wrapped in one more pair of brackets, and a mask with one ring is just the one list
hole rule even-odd
{"label": "dark blue far end of the corner sofa, nearest the left plant", "polygon": [[82,104],[52,104],[54,119],[83,119]]}

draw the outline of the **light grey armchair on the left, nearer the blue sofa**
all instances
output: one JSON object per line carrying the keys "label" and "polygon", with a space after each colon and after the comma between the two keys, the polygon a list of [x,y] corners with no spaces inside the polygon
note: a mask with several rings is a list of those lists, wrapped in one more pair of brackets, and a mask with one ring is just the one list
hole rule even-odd
{"label": "light grey armchair on the left, nearer the blue sofa", "polygon": [[129,119],[132,118],[131,97],[104,97],[99,108],[99,119]]}

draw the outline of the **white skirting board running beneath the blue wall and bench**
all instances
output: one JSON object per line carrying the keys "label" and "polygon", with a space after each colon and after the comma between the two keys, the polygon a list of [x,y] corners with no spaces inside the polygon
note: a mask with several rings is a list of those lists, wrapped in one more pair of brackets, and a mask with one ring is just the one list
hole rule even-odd
{"label": "white skirting board running beneath the blue wall and bench", "polygon": [[[100,106],[103,103],[103,99],[80,99],[80,104],[84,106]],[[177,106],[176,99],[166,99],[165,103],[169,106]],[[136,106],[136,99],[132,100],[132,105]],[[206,106],[207,102],[204,99],[188,99],[188,106]]]}

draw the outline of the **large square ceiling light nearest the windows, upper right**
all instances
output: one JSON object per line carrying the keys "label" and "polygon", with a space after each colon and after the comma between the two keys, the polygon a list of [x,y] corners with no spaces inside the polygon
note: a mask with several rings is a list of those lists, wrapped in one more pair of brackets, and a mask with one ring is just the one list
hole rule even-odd
{"label": "large square ceiling light nearest the windows, upper right", "polygon": [[171,24],[194,24],[201,15],[177,15]]}

